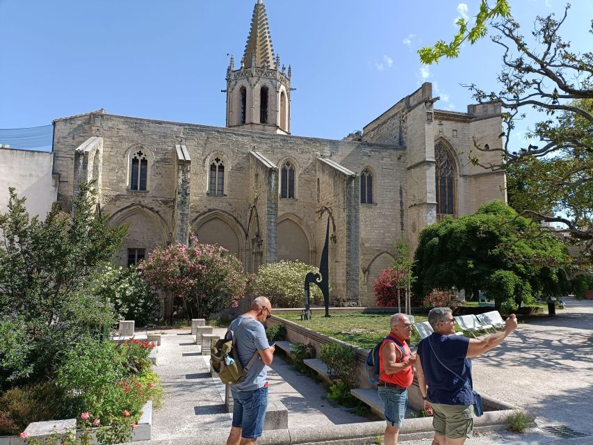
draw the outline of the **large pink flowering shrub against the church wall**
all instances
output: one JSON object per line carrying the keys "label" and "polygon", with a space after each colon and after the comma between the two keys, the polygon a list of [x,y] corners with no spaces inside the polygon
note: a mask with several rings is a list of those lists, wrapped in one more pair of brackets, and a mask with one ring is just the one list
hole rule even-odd
{"label": "large pink flowering shrub against the church wall", "polygon": [[236,307],[249,281],[234,255],[219,245],[200,244],[194,234],[190,234],[190,245],[155,248],[138,270],[153,289],[181,298],[188,319]]}

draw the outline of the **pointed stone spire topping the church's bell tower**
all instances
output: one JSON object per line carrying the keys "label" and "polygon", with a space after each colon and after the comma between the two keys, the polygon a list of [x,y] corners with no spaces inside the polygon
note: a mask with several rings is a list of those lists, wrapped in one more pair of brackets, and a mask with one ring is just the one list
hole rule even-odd
{"label": "pointed stone spire topping the church's bell tower", "polygon": [[256,67],[275,68],[268,15],[262,0],[257,0],[253,8],[251,31],[245,45],[245,54],[243,54],[244,66],[250,68],[252,59],[255,59]]}

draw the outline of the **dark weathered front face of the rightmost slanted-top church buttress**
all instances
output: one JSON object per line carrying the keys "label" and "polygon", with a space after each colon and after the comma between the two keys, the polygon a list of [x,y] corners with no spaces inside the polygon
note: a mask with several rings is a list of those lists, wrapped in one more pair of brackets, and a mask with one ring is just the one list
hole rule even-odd
{"label": "dark weathered front face of the rightmost slanted-top church buttress", "polygon": [[360,306],[360,180],[346,178],[346,306]]}

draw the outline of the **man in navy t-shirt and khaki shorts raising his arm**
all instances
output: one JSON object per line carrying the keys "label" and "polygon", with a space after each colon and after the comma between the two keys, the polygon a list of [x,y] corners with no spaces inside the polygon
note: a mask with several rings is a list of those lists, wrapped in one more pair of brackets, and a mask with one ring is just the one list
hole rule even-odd
{"label": "man in navy t-shirt and khaki shorts raising his arm", "polygon": [[517,327],[517,317],[512,314],[507,318],[505,330],[483,339],[453,335],[455,320],[448,307],[430,309],[428,323],[434,332],[418,346],[416,374],[424,408],[428,414],[433,414],[432,445],[463,445],[473,431],[474,397],[469,359],[501,344]]}

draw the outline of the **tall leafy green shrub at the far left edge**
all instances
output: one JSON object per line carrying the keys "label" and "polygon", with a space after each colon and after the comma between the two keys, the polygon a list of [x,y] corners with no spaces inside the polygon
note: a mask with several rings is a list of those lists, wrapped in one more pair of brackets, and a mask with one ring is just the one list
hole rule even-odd
{"label": "tall leafy green shrub at the far left edge", "polygon": [[111,306],[89,285],[127,231],[95,213],[91,185],[81,184],[72,216],[54,205],[43,221],[9,192],[0,215],[0,331],[8,332],[0,336],[0,390],[44,380],[73,342],[113,325]]}

